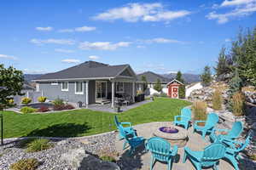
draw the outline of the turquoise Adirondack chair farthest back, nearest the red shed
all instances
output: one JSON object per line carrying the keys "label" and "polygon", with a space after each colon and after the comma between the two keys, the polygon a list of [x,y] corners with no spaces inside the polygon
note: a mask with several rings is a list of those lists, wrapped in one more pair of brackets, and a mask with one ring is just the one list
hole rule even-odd
{"label": "turquoise Adirondack chair farthest back, nearest the red shed", "polygon": [[[178,120],[180,118],[180,120]],[[183,125],[186,129],[189,127],[189,121],[191,120],[191,110],[189,108],[183,108],[180,116],[174,116],[175,125]]]}

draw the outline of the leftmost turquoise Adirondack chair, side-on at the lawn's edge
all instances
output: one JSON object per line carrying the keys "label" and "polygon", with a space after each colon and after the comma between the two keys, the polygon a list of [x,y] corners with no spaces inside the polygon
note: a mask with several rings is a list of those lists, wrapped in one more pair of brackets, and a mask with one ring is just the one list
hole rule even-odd
{"label": "leftmost turquoise Adirondack chair, side-on at the lawn's edge", "polygon": [[[114,123],[116,125],[116,127],[119,129],[119,139],[124,139],[125,136],[120,133],[120,127],[122,127],[124,129],[124,134],[128,135],[128,136],[136,136],[136,132],[133,129],[133,127],[131,126],[131,122],[119,122],[117,116],[114,116]],[[124,127],[123,125],[128,125],[128,127]]]}

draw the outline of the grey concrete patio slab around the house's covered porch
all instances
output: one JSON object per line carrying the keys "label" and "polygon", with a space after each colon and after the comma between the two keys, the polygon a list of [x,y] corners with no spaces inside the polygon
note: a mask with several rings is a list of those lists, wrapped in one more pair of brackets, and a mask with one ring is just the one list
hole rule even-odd
{"label": "grey concrete patio slab around the house's covered porch", "polygon": [[[145,104],[147,104],[149,102],[152,102],[152,101],[151,100],[144,100],[144,101],[137,102],[137,103],[134,103],[134,104],[131,104],[131,105],[122,105],[121,108],[120,108],[120,111],[121,112],[128,111],[128,110],[136,108],[136,107],[138,107],[140,105],[145,105]],[[93,111],[107,111],[107,112],[111,112],[111,113],[116,113],[114,111],[114,109],[111,108],[111,104],[106,104],[106,105],[101,105],[101,104],[88,105],[87,109],[90,109],[90,110],[93,110]]]}

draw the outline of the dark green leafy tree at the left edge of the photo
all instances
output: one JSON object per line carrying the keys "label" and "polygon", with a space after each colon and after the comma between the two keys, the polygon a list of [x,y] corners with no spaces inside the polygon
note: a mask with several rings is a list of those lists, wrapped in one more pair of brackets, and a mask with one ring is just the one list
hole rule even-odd
{"label": "dark green leafy tree at the left edge of the photo", "polygon": [[15,95],[21,94],[24,78],[22,71],[17,71],[14,67],[4,68],[0,65],[0,118],[2,130],[2,144],[3,144],[3,109],[13,106],[10,102]]}

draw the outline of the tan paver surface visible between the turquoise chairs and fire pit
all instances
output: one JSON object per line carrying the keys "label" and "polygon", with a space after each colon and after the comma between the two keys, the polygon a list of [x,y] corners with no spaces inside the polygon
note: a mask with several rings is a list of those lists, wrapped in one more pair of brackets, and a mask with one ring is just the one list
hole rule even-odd
{"label": "tan paver surface visible between the turquoise chairs and fire pit", "polygon": [[[145,139],[149,139],[153,137],[153,132],[161,127],[161,124],[166,124],[166,122],[151,122],[140,124],[134,126],[137,129],[138,136],[143,136]],[[172,122],[170,122],[172,125]],[[202,150],[208,144],[211,144],[208,141],[208,137],[206,140],[201,138],[199,133],[193,133],[193,128],[189,127],[189,141],[186,144],[191,150]],[[128,170],[128,169],[141,169],[141,170],[148,170],[150,169],[150,161],[151,161],[151,154],[150,152],[145,152],[143,147],[141,147],[133,156],[128,155],[128,150],[122,150],[123,147],[123,140],[119,140],[119,135],[116,135],[116,149],[120,153],[119,161],[121,164],[121,168]],[[193,170],[195,167],[189,161],[189,159],[183,163],[183,148],[178,148],[177,156],[175,158],[175,162],[172,164],[172,170]],[[166,163],[162,163],[156,161],[154,164],[154,170],[164,170],[167,169]],[[212,169],[212,168],[207,168]],[[227,161],[221,160],[219,163],[219,170],[232,170],[234,169],[231,164]]]}

